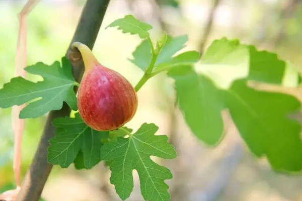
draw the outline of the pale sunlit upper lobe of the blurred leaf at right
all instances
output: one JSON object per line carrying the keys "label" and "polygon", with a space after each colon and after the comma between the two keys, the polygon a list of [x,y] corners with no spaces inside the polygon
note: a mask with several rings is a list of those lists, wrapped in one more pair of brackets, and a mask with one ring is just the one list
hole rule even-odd
{"label": "pale sunlit upper lobe of the blurred leaf at right", "polygon": [[249,50],[238,40],[222,38],[208,47],[196,69],[210,77],[220,88],[229,88],[236,79],[245,78],[249,71]]}

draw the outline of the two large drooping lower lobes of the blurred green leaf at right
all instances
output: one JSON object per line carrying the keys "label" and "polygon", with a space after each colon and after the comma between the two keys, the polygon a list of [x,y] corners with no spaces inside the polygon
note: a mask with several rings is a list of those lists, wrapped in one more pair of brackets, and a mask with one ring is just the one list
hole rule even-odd
{"label": "two large drooping lower lobes of the blurred green leaf at right", "polygon": [[223,133],[220,113],[229,109],[253,153],[266,156],[276,170],[302,169],[301,127],[288,118],[300,108],[294,96],[255,90],[246,86],[247,79],[234,81],[229,89],[218,89],[191,66],[174,68],[168,75],[175,80],[180,109],[198,138],[217,143]]}

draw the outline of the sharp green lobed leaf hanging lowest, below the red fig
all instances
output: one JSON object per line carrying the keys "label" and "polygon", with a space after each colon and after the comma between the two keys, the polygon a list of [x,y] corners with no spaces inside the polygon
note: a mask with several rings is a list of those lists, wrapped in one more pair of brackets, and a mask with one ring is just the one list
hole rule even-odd
{"label": "sharp green lobed leaf hanging lowest, below the red fig", "polygon": [[140,180],[140,190],[145,200],[168,201],[169,186],[164,182],[172,174],[166,167],[160,166],[150,156],[175,158],[173,146],[168,144],[168,137],[154,135],[158,127],[144,123],[129,138],[118,138],[116,142],[106,143],[101,148],[101,158],[112,161],[110,181],[115,185],[121,199],[129,197],[133,189],[132,170],[136,169]]}

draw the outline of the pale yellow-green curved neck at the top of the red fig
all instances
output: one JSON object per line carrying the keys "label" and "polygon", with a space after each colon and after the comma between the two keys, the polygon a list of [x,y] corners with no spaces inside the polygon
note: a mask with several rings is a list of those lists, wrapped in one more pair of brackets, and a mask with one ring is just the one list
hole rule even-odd
{"label": "pale yellow-green curved neck at the top of the red fig", "polygon": [[74,42],[72,43],[71,48],[73,50],[78,49],[80,51],[85,64],[85,72],[88,72],[99,63],[87,45],[80,42]]}

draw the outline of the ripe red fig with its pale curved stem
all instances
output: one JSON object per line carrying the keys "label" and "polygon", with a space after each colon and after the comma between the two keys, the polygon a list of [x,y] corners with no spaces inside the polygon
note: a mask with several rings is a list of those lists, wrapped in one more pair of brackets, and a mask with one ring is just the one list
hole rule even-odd
{"label": "ripe red fig with its pale curved stem", "polygon": [[101,65],[84,44],[75,42],[85,64],[78,91],[78,108],[84,122],[98,131],[115,130],[130,121],[137,109],[137,96],[129,81]]}

